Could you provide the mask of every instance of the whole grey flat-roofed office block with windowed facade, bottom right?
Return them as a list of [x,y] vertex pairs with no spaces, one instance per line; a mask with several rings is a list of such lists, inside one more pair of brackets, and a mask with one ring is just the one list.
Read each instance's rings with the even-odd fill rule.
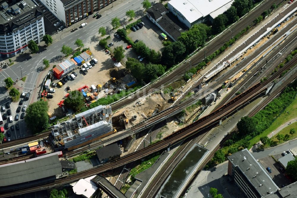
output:
[[266,197],[279,190],[268,172],[247,149],[228,156],[228,160],[228,175],[234,179],[246,197]]

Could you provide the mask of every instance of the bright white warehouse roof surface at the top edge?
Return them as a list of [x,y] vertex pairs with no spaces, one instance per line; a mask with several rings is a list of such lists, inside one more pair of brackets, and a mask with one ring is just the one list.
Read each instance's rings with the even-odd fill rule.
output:
[[171,0],[168,4],[183,15],[190,23],[199,18],[206,17],[211,12],[218,10],[220,7],[228,4],[233,0]]

